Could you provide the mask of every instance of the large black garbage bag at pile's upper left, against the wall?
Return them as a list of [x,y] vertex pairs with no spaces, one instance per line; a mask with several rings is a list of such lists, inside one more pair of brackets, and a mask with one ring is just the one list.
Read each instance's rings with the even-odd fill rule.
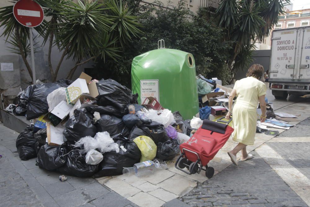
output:
[[[46,97],[48,94],[60,88],[57,83],[45,83],[31,85],[20,95],[20,103],[24,106],[27,103],[27,120],[38,118],[48,112]],[[20,103],[18,105],[20,105]],[[22,106],[22,107],[23,107]],[[16,112],[16,110],[15,110]]]

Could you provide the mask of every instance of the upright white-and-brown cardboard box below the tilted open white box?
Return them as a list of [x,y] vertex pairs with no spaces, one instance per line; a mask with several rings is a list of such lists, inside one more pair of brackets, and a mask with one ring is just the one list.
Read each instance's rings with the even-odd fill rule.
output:
[[64,131],[64,127],[58,125],[57,127],[52,126],[50,123],[47,123],[47,143],[51,146],[59,146],[64,143],[62,132]]

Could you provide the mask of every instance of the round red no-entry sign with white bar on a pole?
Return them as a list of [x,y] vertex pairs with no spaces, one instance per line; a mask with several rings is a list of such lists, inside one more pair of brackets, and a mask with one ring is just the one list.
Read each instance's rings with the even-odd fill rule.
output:
[[42,7],[32,0],[19,0],[13,7],[15,19],[26,27],[36,27],[44,19]]

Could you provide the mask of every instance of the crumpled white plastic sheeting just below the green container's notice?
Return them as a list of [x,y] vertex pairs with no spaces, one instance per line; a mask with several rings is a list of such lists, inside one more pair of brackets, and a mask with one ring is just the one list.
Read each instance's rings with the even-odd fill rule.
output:
[[168,127],[171,123],[175,122],[173,114],[168,109],[160,111],[150,109],[144,110],[144,113],[148,119],[163,124],[165,127]]

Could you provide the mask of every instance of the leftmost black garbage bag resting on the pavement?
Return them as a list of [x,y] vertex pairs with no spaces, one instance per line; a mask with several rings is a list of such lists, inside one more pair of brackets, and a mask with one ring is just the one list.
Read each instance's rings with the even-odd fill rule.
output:
[[33,125],[31,124],[18,135],[16,140],[17,153],[21,160],[29,160],[37,156],[34,146],[35,142]]

